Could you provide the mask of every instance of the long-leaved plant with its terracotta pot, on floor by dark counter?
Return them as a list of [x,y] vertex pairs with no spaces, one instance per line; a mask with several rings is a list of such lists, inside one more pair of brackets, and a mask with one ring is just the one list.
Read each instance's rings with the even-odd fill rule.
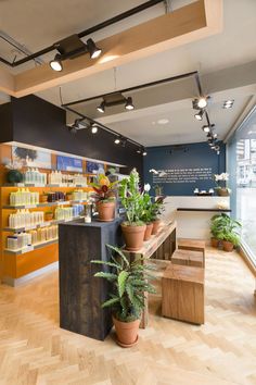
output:
[[106,245],[114,253],[111,261],[91,261],[103,264],[111,272],[102,271],[95,277],[107,280],[111,283],[110,299],[102,303],[103,308],[112,309],[113,322],[117,334],[117,344],[121,347],[132,347],[138,341],[140,318],[144,309],[145,294],[155,293],[149,283],[151,270],[144,260],[137,259],[129,262],[124,252],[111,245]]

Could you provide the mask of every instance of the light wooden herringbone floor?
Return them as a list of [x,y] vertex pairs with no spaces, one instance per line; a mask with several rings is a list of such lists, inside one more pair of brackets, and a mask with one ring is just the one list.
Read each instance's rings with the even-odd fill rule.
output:
[[206,262],[205,325],[161,318],[156,295],[132,349],[61,330],[56,273],[0,286],[0,384],[256,384],[254,278],[235,253]]

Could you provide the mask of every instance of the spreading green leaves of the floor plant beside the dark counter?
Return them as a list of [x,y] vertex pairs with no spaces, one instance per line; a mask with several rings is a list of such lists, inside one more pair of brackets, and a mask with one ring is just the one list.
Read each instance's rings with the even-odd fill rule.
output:
[[148,273],[152,266],[144,264],[143,259],[129,262],[118,247],[106,246],[112,250],[111,261],[91,261],[111,269],[111,272],[94,274],[108,281],[112,287],[110,299],[103,302],[102,307],[112,308],[113,315],[121,322],[138,320],[144,309],[145,293],[155,293],[154,286],[149,283],[154,278]]

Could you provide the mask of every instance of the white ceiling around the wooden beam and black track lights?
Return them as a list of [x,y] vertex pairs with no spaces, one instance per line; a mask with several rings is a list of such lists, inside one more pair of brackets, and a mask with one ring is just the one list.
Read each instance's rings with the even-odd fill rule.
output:
[[[37,51],[142,2],[138,0],[0,1],[0,26],[29,50]],[[176,9],[188,2],[191,0],[174,0],[171,5]],[[102,30],[93,38],[98,40],[104,34],[113,34],[163,12],[163,5],[156,5],[129,21]],[[222,89],[221,85],[218,89],[207,83],[206,75],[255,61],[255,36],[256,1],[223,0],[223,32],[221,34],[123,65],[115,70],[116,76],[114,76],[114,70],[108,70],[65,84],[62,86],[63,101],[69,102],[199,70],[202,75],[205,75],[203,76],[205,91],[213,96],[213,102],[209,105],[210,120],[216,124],[220,138],[225,138],[245,109],[249,98],[256,94],[255,88],[251,87],[245,91],[243,87],[234,87],[230,82],[226,89]],[[0,53],[7,53],[7,51],[3,52],[1,45]],[[11,57],[12,53],[9,50],[9,58]],[[233,78],[234,83],[235,80]],[[182,82],[180,87],[183,87]],[[48,89],[39,92],[38,96],[57,105],[61,104],[59,88]],[[108,112],[107,120],[104,117],[105,124],[107,122],[111,128],[145,146],[202,141],[204,140],[202,124],[194,120],[191,109],[191,100],[195,96],[195,91],[191,89],[191,99],[188,96],[181,97],[179,105],[177,105],[177,100],[171,100],[170,97],[169,103],[166,101],[163,104],[156,103],[155,108],[143,105],[135,112],[116,114],[116,110],[113,109]],[[232,110],[221,108],[221,102],[226,98],[235,99]],[[82,109],[85,113],[89,110],[87,107]],[[163,117],[168,119],[169,123],[152,124]]]

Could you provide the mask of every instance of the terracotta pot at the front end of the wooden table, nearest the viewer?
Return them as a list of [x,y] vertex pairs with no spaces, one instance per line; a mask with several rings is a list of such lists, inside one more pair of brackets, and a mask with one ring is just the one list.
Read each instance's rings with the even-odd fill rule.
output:
[[146,225],[127,226],[121,224],[126,249],[137,251],[142,248]]

